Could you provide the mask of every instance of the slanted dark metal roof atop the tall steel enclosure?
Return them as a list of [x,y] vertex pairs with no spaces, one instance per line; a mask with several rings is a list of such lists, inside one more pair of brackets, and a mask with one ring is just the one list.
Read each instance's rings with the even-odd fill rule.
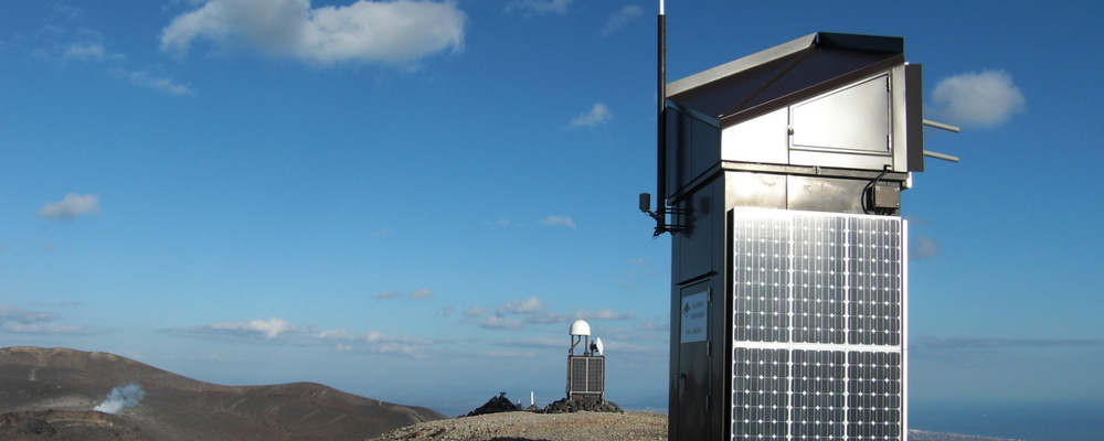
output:
[[667,85],[667,98],[722,127],[904,64],[904,40],[817,32]]

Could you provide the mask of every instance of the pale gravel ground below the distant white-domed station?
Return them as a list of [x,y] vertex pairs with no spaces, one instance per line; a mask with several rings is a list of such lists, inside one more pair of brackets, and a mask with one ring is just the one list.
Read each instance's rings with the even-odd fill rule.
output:
[[667,416],[629,411],[487,413],[420,422],[370,441],[660,441],[667,440]]

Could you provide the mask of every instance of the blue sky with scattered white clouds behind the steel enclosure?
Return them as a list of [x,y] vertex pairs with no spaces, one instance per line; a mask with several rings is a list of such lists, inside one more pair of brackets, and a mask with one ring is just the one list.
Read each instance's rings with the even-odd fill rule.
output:
[[[666,410],[670,239],[637,211],[656,2],[3,8],[0,345],[453,416],[562,398],[584,319],[607,398]],[[1104,3],[666,13],[669,80],[818,31],[902,36],[925,117],[963,128],[926,129],[962,162],[903,196],[914,428],[962,429],[934,417],[951,405],[1104,408]]]

